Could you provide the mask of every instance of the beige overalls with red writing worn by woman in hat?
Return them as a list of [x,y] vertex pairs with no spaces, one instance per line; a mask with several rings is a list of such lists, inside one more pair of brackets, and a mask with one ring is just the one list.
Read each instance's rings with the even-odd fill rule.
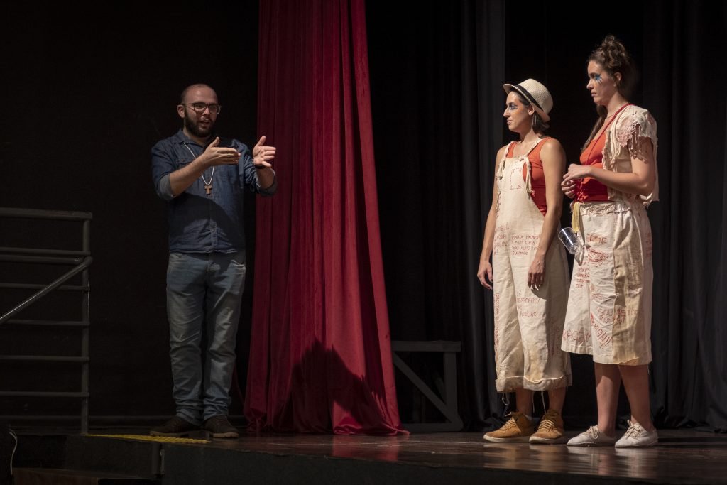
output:
[[571,384],[569,354],[561,350],[569,285],[566,252],[553,239],[545,257],[545,281],[529,288],[528,270],[545,218],[530,197],[530,161],[527,155],[508,157],[512,145],[507,145],[497,170],[492,249],[495,385],[498,392],[563,388]]

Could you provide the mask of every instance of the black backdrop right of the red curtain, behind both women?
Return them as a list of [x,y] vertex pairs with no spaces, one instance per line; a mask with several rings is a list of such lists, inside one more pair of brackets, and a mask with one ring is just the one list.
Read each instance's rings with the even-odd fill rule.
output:
[[[392,335],[462,340],[459,398],[470,428],[502,412],[492,385],[491,294],[475,279],[492,157],[513,138],[502,121],[502,82],[533,77],[549,87],[550,135],[577,161],[595,121],[585,60],[613,33],[641,68],[630,100],[659,124],[662,201],[649,209],[656,422],[727,429],[724,4],[372,1],[368,11]],[[576,427],[594,419],[595,390],[590,357],[572,362],[563,414]]]

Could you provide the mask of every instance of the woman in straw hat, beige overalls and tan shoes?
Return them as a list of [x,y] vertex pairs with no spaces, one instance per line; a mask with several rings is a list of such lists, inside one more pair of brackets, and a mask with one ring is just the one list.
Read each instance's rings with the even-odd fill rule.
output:
[[[558,140],[544,135],[553,108],[545,86],[527,79],[503,87],[503,116],[520,140],[497,152],[477,276],[494,290],[497,391],[514,391],[517,411],[484,438],[561,443],[561,410],[571,383],[569,355],[561,350],[569,276],[565,250],[553,239],[563,207],[565,154]],[[531,417],[536,390],[547,390],[550,402],[537,431]]]

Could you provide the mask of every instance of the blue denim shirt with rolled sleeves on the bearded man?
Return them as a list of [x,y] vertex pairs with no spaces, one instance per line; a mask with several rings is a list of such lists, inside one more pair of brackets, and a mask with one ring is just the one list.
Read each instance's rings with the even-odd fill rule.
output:
[[[222,139],[221,139],[222,140]],[[277,178],[267,189],[260,188],[252,154],[238,140],[225,139],[221,145],[242,153],[237,165],[214,167],[212,191],[207,195],[201,177],[179,196],[172,196],[169,174],[202,154],[204,148],[180,129],[176,135],[161,140],[151,149],[151,173],[156,193],[169,201],[169,252],[238,252],[245,249],[243,191],[272,196]],[[204,173],[206,180],[212,169]]]

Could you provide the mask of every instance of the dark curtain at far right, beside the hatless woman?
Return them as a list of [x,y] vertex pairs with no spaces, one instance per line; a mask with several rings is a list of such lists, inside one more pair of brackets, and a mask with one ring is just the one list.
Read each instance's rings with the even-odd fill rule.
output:
[[[727,431],[727,69],[723,3],[649,1],[644,105],[659,124],[652,407],[656,424]],[[705,97],[708,99],[704,103]]]

